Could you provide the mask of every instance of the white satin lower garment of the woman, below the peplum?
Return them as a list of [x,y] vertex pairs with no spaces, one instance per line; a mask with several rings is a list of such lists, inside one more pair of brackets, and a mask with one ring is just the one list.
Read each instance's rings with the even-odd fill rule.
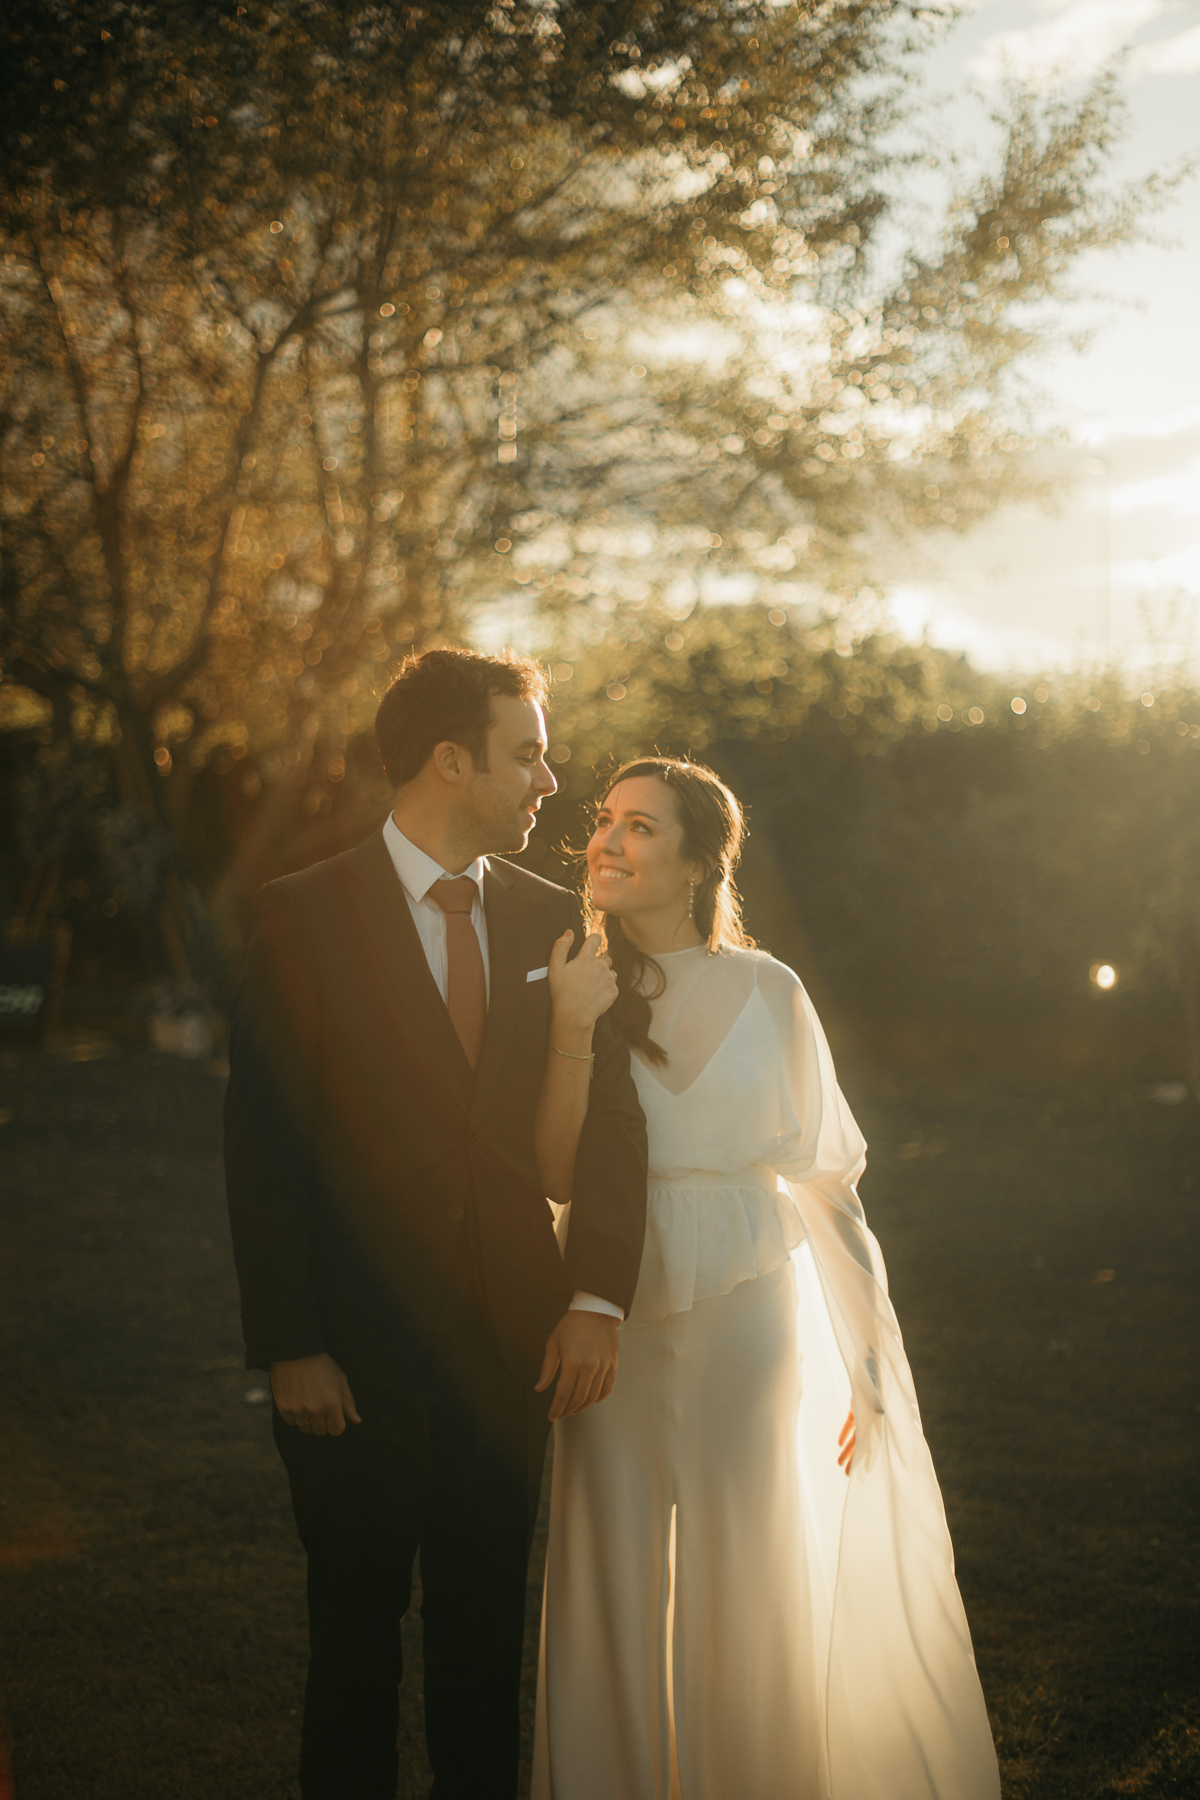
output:
[[819,1800],[799,1382],[786,1262],[554,1427],[534,1800]]

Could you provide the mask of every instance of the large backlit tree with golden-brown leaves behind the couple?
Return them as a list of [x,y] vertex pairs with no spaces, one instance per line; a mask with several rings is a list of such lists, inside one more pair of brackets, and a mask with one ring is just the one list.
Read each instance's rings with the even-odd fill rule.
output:
[[214,752],[336,779],[389,659],[500,596],[721,560],[847,589],[883,529],[995,504],[1031,302],[1135,202],[1101,191],[1110,83],[1015,97],[880,288],[936,22],[14,0],[4,682],[104,738],[185,860]]

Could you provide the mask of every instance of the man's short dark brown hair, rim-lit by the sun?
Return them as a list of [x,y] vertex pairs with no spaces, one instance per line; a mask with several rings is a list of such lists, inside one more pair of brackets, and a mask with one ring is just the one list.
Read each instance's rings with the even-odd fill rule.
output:
[[498,693],[545,706],[545,670],[511,652],[480,657],[473,650],[423,650],[405,657],[374,715],[392,787],[412,781],[446,742],[461,743],[475,767],[486,769],[491,697]]

